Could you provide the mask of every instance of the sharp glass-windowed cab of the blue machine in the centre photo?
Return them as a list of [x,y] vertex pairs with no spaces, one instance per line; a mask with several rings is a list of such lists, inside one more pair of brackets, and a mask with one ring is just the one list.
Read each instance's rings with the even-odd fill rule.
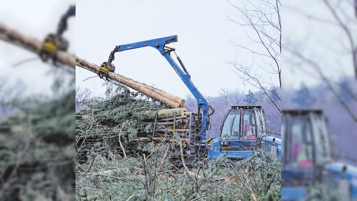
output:
[[251,144],[263,135],[268,135],[267,131],[261,105],[231,106],[220,128],[221,145],[230,145],[230,141],[247,141]]

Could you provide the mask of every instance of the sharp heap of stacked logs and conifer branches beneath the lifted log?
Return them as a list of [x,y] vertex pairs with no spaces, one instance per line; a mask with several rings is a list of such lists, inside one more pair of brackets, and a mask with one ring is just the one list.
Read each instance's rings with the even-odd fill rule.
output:
[[149,144],[162,141],[182,142],[185,146],[188,118],[195,112],[156,105],[145,95],[132,93],[117,82],[104,85],[106,100],[99,97],[82,100],[85,108],[76,113],[78,162],[85,162],[88,150],[92,149],[113,157],[148,152]]

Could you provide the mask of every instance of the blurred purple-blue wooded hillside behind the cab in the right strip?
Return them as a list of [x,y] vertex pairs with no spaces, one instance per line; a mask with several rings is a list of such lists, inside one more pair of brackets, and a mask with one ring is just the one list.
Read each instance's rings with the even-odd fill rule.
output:
[[328,119],[334,152],[340,156],[340,161],[357,164],[356,161],[343,159],[356,159],[353,151],[357,140],[357,121],[353,117],[357,114],[356,81],[352,78],[340,80],[334,90],[336,95],[325,84],[314,87],[302,85],[295,91],[284,90],[282,108],[323,110]]

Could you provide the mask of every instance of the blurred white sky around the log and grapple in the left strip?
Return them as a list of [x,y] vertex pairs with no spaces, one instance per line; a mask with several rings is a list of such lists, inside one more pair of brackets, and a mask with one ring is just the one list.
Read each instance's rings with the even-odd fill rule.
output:
[[[0,6],[0,23],[42,41],[47,34],[56,31],[60,17],[74,4],[75,0],[3,1]],[[64,37],[70,42],[68,51],[75,54],[75,17],[70,17],[67,22],[68,29]],[[9,77],[9,85],[21,79],[28,86],[23,95],[50,95],[56,76],[62,76],[65,80],[69,78],[64,70],[55,69],[35,54],[2,40],[0,55],[0,76]],[[38,59],[35,61],[12,67],[22,60],[36,57]]]

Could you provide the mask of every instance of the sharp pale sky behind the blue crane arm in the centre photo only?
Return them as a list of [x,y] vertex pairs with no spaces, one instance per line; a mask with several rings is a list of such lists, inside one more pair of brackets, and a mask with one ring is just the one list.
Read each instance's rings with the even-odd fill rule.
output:
[[[178,35],[171,43],[182,59],[191,80],[205,96],[216,96],[221,89],[256,90],[243,85],[225,65],[234,60],[238,44],[250,43],[245,30],[228,21],[226,14],[238,18],[227,1],[76,1],[76,55],[96,65],[107,61],[116,45]],[[251,54],[240,52],[241,58]],[[184,98],[191,94],[157,50],[142,47],[117,52],[115,72]],[[76,86],[103,95],[104,80],[76,67]]]

